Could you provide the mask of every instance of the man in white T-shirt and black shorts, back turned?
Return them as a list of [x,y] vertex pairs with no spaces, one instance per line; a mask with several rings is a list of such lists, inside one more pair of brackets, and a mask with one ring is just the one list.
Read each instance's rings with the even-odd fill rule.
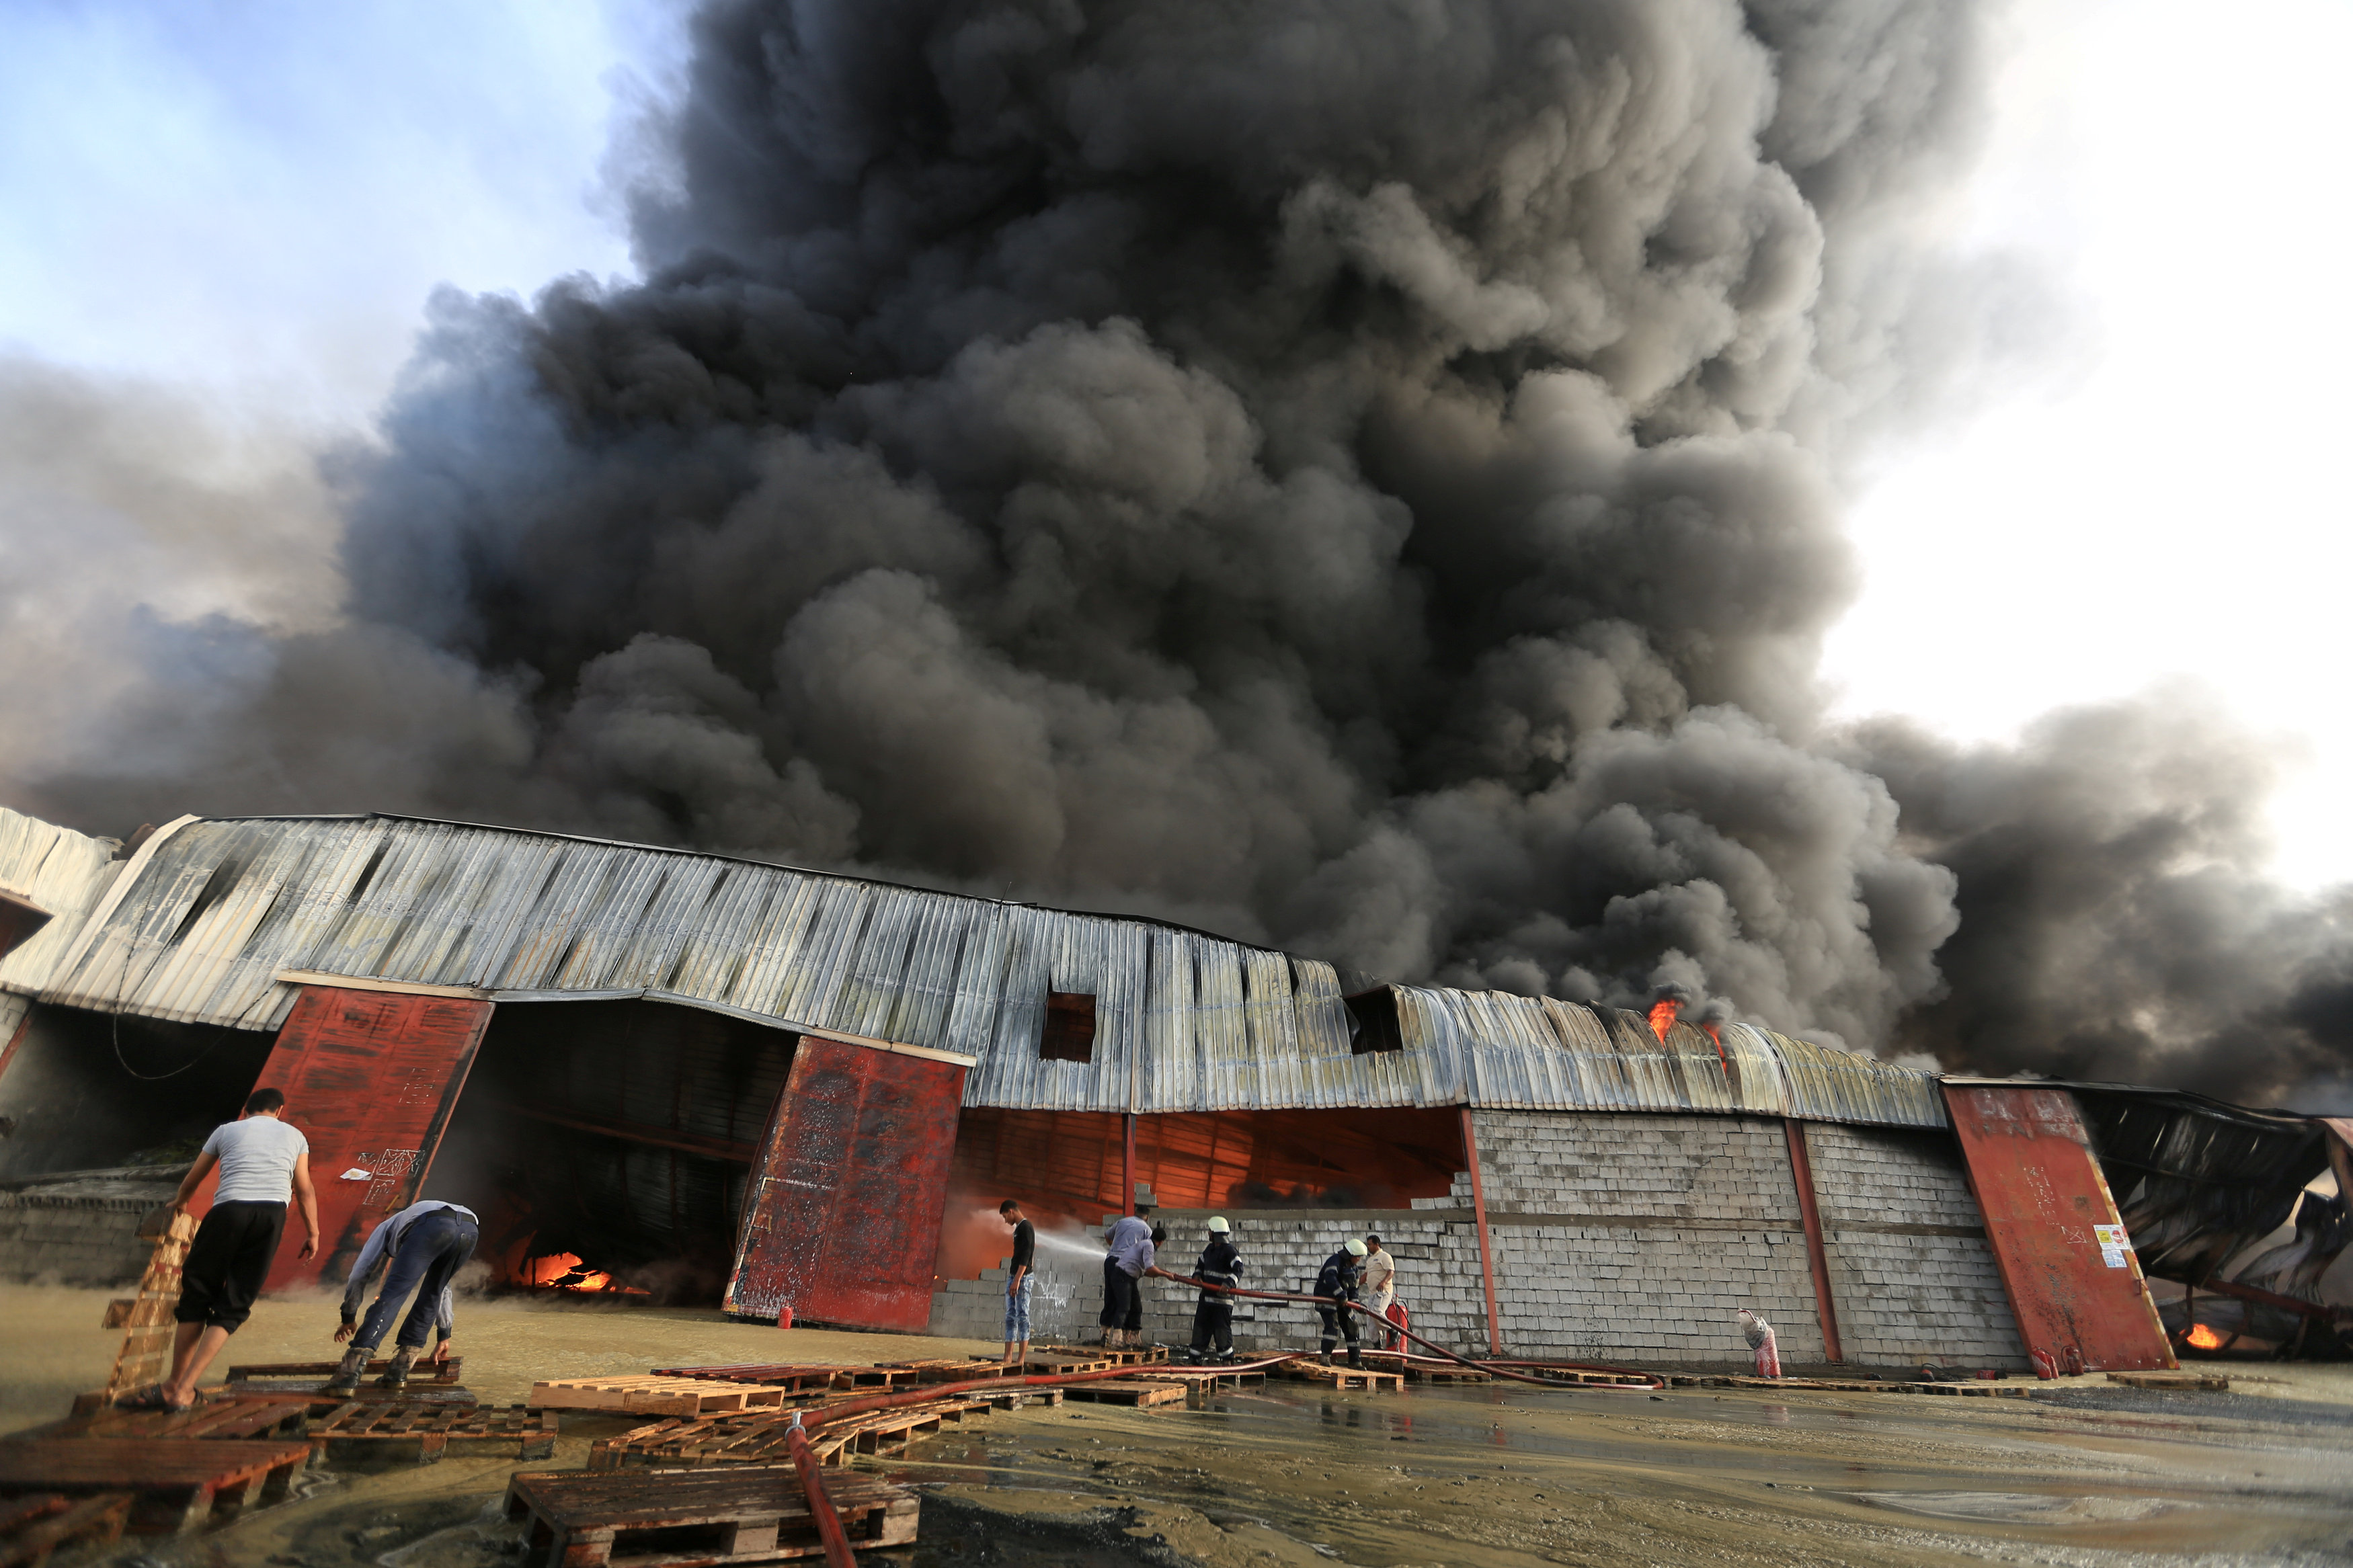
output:
[[186,1213],[195,1190],[214,1166],[221,1185],[212,1194],[205,1222],[195,1227],[188,1260],[179,1274],[179,1307],[172,1309],[172,1375],[141,1389],[122,1403],[162,1410],[186,1410],[195,1403],[195,1380],[245,1326],[254,1298],[278,1258],[278,1237],[287,1225],[287,1201],[301,1206],[301,1255],[318,1253],[318,1194],[311,1190],[311,1140],[287,1126],[287,1098],[275,1088],[256,1088],[245,1100],[245,1117],[212,1128],[205,1152],[188,1175],[179,1178],[172,1211]]

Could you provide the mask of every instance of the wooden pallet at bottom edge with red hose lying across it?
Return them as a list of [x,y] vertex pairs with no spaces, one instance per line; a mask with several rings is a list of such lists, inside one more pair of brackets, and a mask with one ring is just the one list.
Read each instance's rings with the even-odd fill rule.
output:
[[[826,1500],[854,1549],[915,1540],[920,1502],[873,1476],[828,1476]],[[527,1568],[769,1563],[824,1556],[791,1465],[732,1469],[522,1472],[506,1516],[529,1519]]]

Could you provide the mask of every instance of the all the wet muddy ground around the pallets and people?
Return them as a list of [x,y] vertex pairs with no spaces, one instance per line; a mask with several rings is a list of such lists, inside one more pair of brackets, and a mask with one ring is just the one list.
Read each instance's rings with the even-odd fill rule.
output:
[[[106,1378],[104,1295],[0,1288],[0,1427]],[[329,1300],[264,1302],[238,1361],[325,1359]],[[729,1324],[713,1312],[466,1305],[466,1385],[678,1361],[880,1361],[976,1345]],[[224,1361],[226,1363],[226,1361]],[[1553,1392],[1322,1394],[1273,1382],[1207,1408],[991,1415],[906,1462],[922,1542],[873,1563],[2353,1563],[2353,1368],[2231,1366],[2231,1394],[2104,1380],[2035,1399]],[[567,1418],[576,1467],[612,1418]],[[513,1460],[313,1469],[299,1497],[136,1568],[513,1568]],[[85,1556],[82,1561],[96,1561]],[[61,1568],[80,1568],[61,1559]]]

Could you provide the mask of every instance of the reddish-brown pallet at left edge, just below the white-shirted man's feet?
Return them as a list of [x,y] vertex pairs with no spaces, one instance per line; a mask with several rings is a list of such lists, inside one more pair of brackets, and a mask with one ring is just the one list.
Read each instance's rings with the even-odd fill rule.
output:
[[226,1523],[247,1502],[278,1502],[311,1462],[301,1439],[188,1443],[153,1436],[0,1441],[0,1497],[129,1493],[129,1528],[179,1535]]

